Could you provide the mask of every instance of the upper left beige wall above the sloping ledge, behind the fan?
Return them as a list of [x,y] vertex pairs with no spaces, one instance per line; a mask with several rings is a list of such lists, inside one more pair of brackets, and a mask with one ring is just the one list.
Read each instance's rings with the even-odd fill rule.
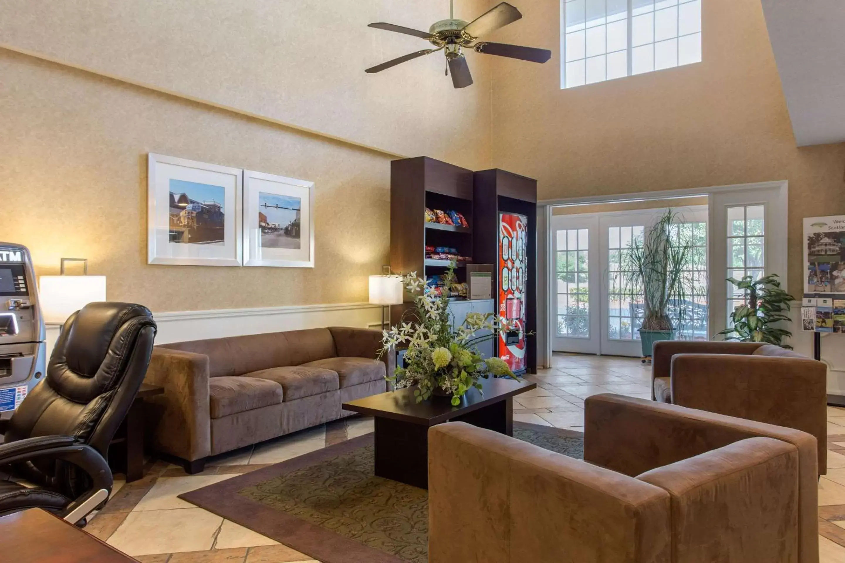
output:
[[[455,16],[472,19],[491,2],[461,0]],[[0,0],[0,46],[481,170],[490,57],[468,57],[476,84],[466,89],[451,87],[442,52],[363,72],[431,47],[368,23],[428,30],[448,17],[449,0]]]

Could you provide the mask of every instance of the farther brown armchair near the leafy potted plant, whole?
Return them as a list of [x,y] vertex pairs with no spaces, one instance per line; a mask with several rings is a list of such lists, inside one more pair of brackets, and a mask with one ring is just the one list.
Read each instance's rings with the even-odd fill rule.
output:
[[756,342],[654,344],[651,396],[661,403],[804,430],[827,473],[827,366]]

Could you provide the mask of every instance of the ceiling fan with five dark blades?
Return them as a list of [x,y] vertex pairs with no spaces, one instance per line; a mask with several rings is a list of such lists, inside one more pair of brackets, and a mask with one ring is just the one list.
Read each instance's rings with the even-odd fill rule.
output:
[[487,35],[491,31],[498,30],[507,24],[512,24],[522,17],[520,11],[509,3],[500,3],[495,8],[473,19],[472,22],[466,23],[462,19],[455,19],[454,0],[450,0],[449,15],[449,19],[442,19],[433,24],[428,29],[428,32],[412,30],[401,25],[385,24],[384,22],[369,24],[369,27],[379,30],[395,31],[396,33],[420,37],[428,40],[436,48],[423,49],[423,51],[413,52],[403,57],[395,58],[392,61],[382,62],[379,65],[368,68],[364,72],[371,74],[380,73],[385,68],[395,67],[402,62],[430,55],[433,52],[444,51],[446,61],[449,64],[447,73],[452,73],[452,84],[454,84],[455,88],[466,88],[466,86],[472,84],[472,74],[470,73],[469,66],[466,64],[466,57],[461,52],[462,48],[472,49],[485,55],[518,58],[522,61],[531,62],[546,62],[552,57],[552,51],[548,51],[548,49],[478,41],[478,38],[482,35]]

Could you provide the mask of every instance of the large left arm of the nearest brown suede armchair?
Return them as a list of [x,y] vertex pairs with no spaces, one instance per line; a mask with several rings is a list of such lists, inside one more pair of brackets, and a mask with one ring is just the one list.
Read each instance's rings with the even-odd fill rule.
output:
[[668,526],[658,487],[462,422],[428,430],[430,563],[668,563]]

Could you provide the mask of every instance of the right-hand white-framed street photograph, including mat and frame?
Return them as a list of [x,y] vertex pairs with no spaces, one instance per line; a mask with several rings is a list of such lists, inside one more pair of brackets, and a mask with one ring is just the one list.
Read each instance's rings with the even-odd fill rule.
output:
[[243,171],[245,266],[314,267],[314,183]]

